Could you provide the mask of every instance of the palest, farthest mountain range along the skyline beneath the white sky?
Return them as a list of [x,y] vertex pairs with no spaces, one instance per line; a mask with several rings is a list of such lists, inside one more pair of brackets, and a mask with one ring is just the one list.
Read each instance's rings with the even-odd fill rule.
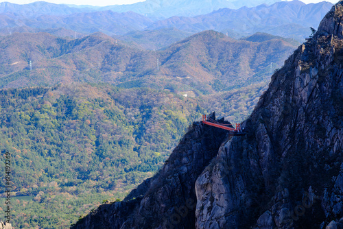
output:
[[278,0],[257,0],[257,1],[237,1],[237,0],[202,0],[202,1],[180,1],[180,0],[146,0],[127,5],[108,5],[104,7],[92,5],[65,5],[36,1],[25,5],[9,2],[0,3],[0,13],[14,13],[18,16],[40,16],[66,15],[77,12],[95,12],[112,10],[113,12],[136,12],[145,16],[167,18],[169,16],[196,16],[206,14],[220,8],[237,9],[243,6],[253,7],[266,3],[268,5]]

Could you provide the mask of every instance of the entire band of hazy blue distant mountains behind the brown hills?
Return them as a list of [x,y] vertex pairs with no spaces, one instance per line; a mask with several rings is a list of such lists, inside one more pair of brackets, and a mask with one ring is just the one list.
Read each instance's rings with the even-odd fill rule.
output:
[[[237,1],[238,2],[238,1]],[[239,38],[255,32],[292,37],[303,40],[310,34],[309,27],[318,27],[322,16],[331,8],[332,3],[321,2],[305,4],[300,1],[276,2],[272,5],[259,5],[252,8],[239,8],[232,10],[225,8],[224,3],[230,1],[162,1],[161,8],[154,8],[150,1],[132,5],[119,5],[106,8],[75,8],[68,5],[36,2],[27,5],[0,3],[0,34],[7,35],[11,32],[52,32],[46,29],[64,28],[71,31],[55,33],[59,36],[71,36],[74,32],[91,34],[103,32],[110,36],[123,35],[132,31],[176,28],[185,32],[201,32],[214,29],[218,32],[228,33],[229,36]],[[191,12],[194,8],[210,10],[197,12],[198,16],[178,16],[183,8]],[[222,4],[223,3],[223,4]],[[244,3],[242,1],[241,3]],[[163,12],[163,17],[147,15],[143,12],[137,14],[134,8],[137,5],[150,5],[154,12]],[[200,8],[200,4],[202,7]],[[213,7],[207,7],[211,4]],[[217,9],[214,5],[221,5]],[[165,5],[165,6],[163,6]],[[164,12],[164,7],[170,12]],[[126,8],[126,10],[123,10]],[[143,8],[142,8],[143,9]],[[176,10],[178,9],[178,10]],[[212,10],[215,10],[212,12]],[[200,10],[201,11],[201,10]],[[202,15],[200,15],[202,14]],[[169,19],[166,17],[171,16]]]

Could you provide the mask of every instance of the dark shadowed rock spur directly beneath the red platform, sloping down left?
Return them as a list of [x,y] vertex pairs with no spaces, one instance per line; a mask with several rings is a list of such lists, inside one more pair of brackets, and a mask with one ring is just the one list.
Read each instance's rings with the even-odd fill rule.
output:
[[156,176],[71,228],[195,228],[196,179],[226,139],[224,130],[194,123]]

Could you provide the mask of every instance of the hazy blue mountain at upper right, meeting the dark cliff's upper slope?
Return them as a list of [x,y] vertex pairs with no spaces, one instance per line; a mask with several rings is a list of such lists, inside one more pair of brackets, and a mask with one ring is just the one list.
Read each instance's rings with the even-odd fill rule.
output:
[[282,1],[238,10],[223,8],[191,18],[172,16],[156,21],[149,28],[176,27],[191,32],[214,29],[233,37],[267,32],[284,37],[294,35],[303,40],[309,36],[309,27],[318,27],[320,20],[331,7],[332,3],[325,1],[316,4]]

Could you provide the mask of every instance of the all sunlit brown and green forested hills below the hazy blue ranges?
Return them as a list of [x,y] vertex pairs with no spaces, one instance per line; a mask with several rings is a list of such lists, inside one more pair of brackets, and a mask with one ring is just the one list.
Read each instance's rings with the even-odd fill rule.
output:
[[148,51],[135,36],[156,33],[0,39],[0,147],[14,160],[14,225],[60,228],[125,197],[202,114],[247,117],[271,67],[296,45],[208,31]]

